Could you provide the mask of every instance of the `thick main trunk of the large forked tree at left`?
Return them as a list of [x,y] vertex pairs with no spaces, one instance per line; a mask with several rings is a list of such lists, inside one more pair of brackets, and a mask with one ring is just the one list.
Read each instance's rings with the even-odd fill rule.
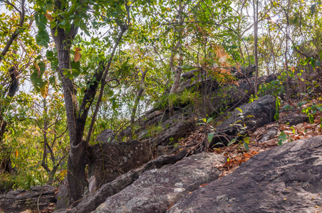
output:
[[[57,36],[55,36],[57,31]],[[55,42],[58,58],[58,72],[61,76],[63,86],[64,102],[66,107],[67,126],[71,148],[68,156],[68,189],[69,202],[73,204],[83,197],[83,193],[88,188],[85,178],[85,155],[86,145],[82,141],[85,119],[78,118],[78,102],[76,100],[76,89],[73,82],[63,75],[65,70],[71,70],[70,50],[73,38],[75,38],[78,28],[71,26],[71,31],[67,34],[63,28],[52,28],[51,34]],[[82,112],[80,112],[82,113]],[[78,113],[79,114],[79,113]]]

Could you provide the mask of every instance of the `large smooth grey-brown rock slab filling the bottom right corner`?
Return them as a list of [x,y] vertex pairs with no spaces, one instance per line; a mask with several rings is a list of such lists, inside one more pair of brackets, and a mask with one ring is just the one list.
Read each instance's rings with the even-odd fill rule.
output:
[[321,192],[322,136],[316,136],[254,155],[167,212],[318,212]]

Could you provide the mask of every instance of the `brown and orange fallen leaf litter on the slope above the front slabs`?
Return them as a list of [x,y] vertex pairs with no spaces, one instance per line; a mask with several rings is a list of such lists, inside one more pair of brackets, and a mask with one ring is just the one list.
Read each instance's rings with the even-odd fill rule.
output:
[[[321,103],[319,99],[312,99],[311,102],[301,105],[301,102],[298,101],[289,101],[289,103],[284,103],[284,106],[289,105],[292,107],[291,110],[281,110],[279,117],[284,117],[290,112],[295,114],[303,114],[303,109],[308,109],[313,104]],[[299,107],[301,105],[301,107]],[[281,106],[283,109],[284,106]],[[311,108],[309,108],[311,109]],[[261,128],[256,129],[254,132],[249,133],[249,151],[241,145],[241,143],[233,144],[231,146],[224,146],[222,148],[209,148],[209,152],[219,153],[224,155],[227,158],[227,162],[222,165],[216,165],[216,167],[221,170],[220,178],[232,173],[236,170],[241,163],[246,162],[251,158],[251,156],[266,151],[268,149],[279,146],[278,143],[287,143],[290,141],[296,141],[303,138],[310,138],[313,136],[322,135],[322,111],[317,110],[313,115],[314,122],[311,123],[300,123],[296,126],[289,126],[283,124],[281,119],[279,121],[274,121],[271,124],[266,124]],[[220,123],[220,122],[219,122]],[[268,141],[259,142],[261,136],[264,135],[269,129],[275,128],[278,133],[274,138],[269,139]],[[182,138],[178,142],[178,146],[189,147],[187,153],[193,153],[194,148],[197,148],[202,144],[202,141],[205,138],[204,126],[200,126],[199,129],[190,133],[186,138]]]

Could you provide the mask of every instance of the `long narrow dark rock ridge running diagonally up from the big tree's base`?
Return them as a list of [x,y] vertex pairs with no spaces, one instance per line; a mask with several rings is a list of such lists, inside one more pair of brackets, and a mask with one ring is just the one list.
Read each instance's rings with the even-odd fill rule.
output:
[[77,207],[74,207],[71,210],[68,209],[61,209],[56,211],[57,213],[67,213],[67,212],[73,212],[73,213],[87,213],[95,210],[100,204],[105,202],[105,200],[115,195],[116,193],[120,192],[121,190],[125,189],[125,187],[128,187],[130,184],[132,184],[137,178],[140,177],[142,173],[144,173],[146,170],[152,170],[155,168],[161,168],[164,165],[170,165],[178,160],[181,160],[185,157],[185,154],[187,152],[187,149],[184,149],[177,155],[162,155],[156,158],[155,160],[152,160],[148,162],[145,165],[142,165],[140,168],[136,168],[134,170],[130,170],[130,172],[121,175],[120,177],[116,178],[112,182],[106,183],[102,187],[100,187],[95,192],[92,192],[87,197],[84,197],[80,204],[78,204]]

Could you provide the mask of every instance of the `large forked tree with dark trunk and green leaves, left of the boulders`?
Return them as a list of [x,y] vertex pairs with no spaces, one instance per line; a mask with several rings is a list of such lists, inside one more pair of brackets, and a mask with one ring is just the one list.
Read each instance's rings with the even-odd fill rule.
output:
[[[49,41],[48,33],[46,31],[46,23],[50,21],[51,36],[55,43],[56,58],[58,60],[57,73],[60,77],[63,87],[64,102],[66,107],[66,118],[68,126],[69,140],[71,148],[68,155],[68,188],[70,204],[76,203],[88,192],[88,182],[85,178],[86,165],[86,148],[89,140],[84,140],[85,122],[88,118],[90,106],[95,99],[95,94],[100,85],[100,94],[98,102],[93,113],[92,123],[95,121],[95,116],[98,113],[101,98],[105,87],[105,79],[113,60],[116,47],[128,29],[130,20],[129,6],[127,1],[118,1],[116,4],[102,1],[36,1],[37,14],[36,23],[38,26],[38,43],[47,47]],[[93,6],[93,13],[91,8]],[[49,11],[49,13],[47,13]],[[116,12],[116,13],[115,13]],[[88,16],[91,13],[91,17]],[[84,91],[81,103],[78,104],[77,90],[74,84],[73,77],[79,73],[79,51],[81,48],[75,48],[74,61],[71,60],[71,52],[73,48],[73,41],[78,34],[79,28],[85,33],[89,34],[89,28],[86,22],[90,18],[104,18],[111,26],[117,26],[113,30],[117,35],[113,50],[107,65],[98,65],[93,72],[92,78],[88,82],[88,87]],[[101,22],[102,23],[102,22]],[[105,64],[105,62],[103,62]],[[77,74],[76,74],[77,75]],[[90,125],[88,131],[88,138],[93,128]]]

